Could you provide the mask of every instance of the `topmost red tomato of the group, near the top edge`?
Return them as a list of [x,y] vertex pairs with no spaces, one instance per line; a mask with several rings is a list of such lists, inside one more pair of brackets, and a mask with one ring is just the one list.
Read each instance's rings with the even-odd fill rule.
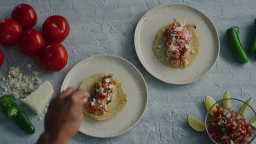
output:
[[37,13],[30,5],[21,3],[11,12],[11,18],[18,21],[22,28],[34,27],[37,23]]

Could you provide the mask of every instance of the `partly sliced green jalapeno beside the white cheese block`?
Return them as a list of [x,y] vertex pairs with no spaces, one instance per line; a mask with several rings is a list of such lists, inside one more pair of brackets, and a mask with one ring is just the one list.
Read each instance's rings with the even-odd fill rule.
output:
[[17,104],[12,101],[9,95],[0,98],[0,105],[3,107],[9,119],[13,119],[15,123],[28,134],[34,134],[35,128],[27,118],[24,112],[20,111]]

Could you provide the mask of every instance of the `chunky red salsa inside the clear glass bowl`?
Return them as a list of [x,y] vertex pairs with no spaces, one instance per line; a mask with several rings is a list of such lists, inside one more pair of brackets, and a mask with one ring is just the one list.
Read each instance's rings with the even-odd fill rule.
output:
[[219,144],[244,144],[253,135],[250,124],[243,115],[234,112],[230,107],[216,106],[213,117],[209,120],[208,131]]

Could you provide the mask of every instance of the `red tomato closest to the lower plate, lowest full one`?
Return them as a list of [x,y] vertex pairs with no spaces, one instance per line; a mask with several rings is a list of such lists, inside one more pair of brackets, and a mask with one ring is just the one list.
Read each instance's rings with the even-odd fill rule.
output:
[[39,62],[46,71],[59,71],[67,64],[68,53],[60,43],[50,43],[39,54]]

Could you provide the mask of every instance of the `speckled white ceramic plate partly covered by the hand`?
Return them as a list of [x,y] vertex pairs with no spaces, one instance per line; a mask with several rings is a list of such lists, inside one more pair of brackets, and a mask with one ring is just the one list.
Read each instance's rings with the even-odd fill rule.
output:
[[68,87],[78,88],[82,80],[96,73],[112,73],[122,82],[127,95],[125,107],[116,117],[96,121],[84,116],[79,131],[94,137],[113,137],[127,132],[143,116],[148,96],[146,82],[127,60],[113,55],[94,55],[77,63],[66,75],[61,91]]

